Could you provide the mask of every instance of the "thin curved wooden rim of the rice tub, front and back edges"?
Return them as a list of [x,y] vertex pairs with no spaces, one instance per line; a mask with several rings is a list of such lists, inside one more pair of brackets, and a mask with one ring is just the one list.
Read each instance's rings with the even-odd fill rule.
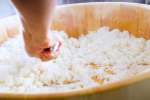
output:
[[[150,9],[150,7],[146,4],[138,4],[138,3],[127,3],[127,2],[91,2],[91,3],[77,3],[77,4],[65,4],[60,5],[58,8],[62,7],[70,7],[70,6],[76,6],[76,5],[99,5],[99,4],[111,4],[111,5],[130,5],[130,6],[136,6],[136,7],[144,7],[146,9]],[[105,93],[107,91],[127,87],[130,85],[133,85],[138,82],[142,82],[144,80],[150,79],[150,72],[141,73],[138,75],[135,75],[133,77],[126,78],[124,80],[116,81],[113,83],[105,84],[102,86],[96,86],[81,90],[73,90],[73,91],[67,91],[67,92],[55,92],[55,93],[0,93],[1,97],[6,98],[65,98],[65,97],[71,97],[71,96],[81,96],[81,95],[90,95],[95,93]]]

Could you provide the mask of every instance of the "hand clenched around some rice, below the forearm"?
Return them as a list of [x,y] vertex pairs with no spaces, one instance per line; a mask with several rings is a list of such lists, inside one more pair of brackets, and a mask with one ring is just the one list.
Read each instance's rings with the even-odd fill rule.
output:
[[[45,37],[38,38],[38,33],[36,37],[33,36],[30,32],[25,31],[24,43],[27,53],[32,57],[38,57],[42,61],[51,60],[56,58],[60,52],[61,41],[57,39],[57,43],[53,43],[48,35]],[[54,50],[55,49],[55,50]]]

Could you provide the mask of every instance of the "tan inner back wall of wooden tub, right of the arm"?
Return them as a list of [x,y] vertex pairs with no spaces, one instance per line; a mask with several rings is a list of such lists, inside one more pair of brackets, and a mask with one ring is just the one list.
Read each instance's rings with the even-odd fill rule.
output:
[[78,37],[102,26],[127,30],[137,37],[149,39],[150,9],[147,5],[130,3],[65,5],[56,9],[52,29]]

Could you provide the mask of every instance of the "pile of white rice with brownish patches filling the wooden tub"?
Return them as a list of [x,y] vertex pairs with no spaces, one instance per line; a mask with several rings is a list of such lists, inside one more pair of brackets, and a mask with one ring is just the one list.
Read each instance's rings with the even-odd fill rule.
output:
[[0,92],[60,92],[102,86],[150,69],[150,40],[102,27],[79,39],[59,34],[57,59],[30,58],[22,35],[0,47]]

